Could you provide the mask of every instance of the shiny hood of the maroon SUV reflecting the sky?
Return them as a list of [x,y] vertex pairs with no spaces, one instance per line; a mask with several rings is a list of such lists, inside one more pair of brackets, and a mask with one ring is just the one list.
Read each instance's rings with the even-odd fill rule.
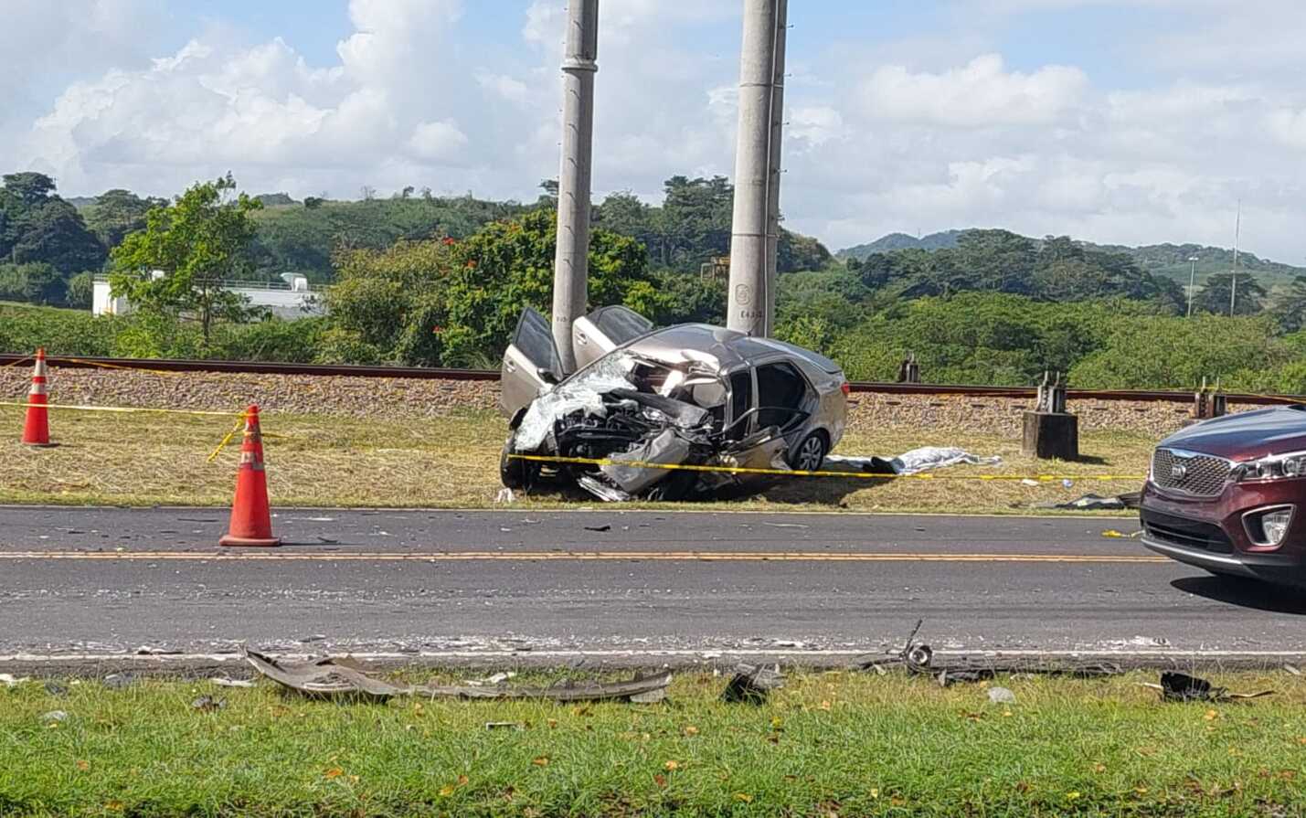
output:
[[1161,442],[1229,460],[1306,451],[1306,406],[1276,406],[1203,421]]

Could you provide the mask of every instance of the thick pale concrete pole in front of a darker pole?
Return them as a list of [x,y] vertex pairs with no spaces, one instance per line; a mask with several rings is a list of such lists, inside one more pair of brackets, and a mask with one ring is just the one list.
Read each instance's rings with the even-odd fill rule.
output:
[[726,327],[767,335],[767,231],[777,0],[744,0]]

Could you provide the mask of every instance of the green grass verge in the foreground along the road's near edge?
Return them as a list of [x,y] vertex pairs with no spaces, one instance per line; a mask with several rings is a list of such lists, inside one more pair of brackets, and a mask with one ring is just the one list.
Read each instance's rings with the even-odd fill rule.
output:
[[[1279,694],[1164,704],[1145,678],[1002,679],[1017,703],[995,706],[980,685],[807,673],[760,707],[720,703],[710,676],[582,707],[25,683],[0,687],[0,814],[1301,814],[1306,683],[1217,677]],[[229,706],[196,712],[200,694]]]

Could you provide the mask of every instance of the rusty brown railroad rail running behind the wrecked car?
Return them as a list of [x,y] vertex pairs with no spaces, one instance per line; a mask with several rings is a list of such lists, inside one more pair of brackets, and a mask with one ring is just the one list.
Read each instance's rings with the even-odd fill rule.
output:
[[[0,353],[0,367],[29,361],[30,355]],[[246,375],[315,375],[349,378],[410,378],[422,380],[498,380],[495,370],[452,370],[418,366],[343,366],[317,363],[273,363],[251,361],[178,361],[165,358],[72,358],[50,355],[47,363],[57,368],[121,368],[154,370],[163,372],[230,372]],[[956,395],[965,397],[1033,399],[1034,387],[976,387],[934,383],[875,383],[854,382],[853,392],[879,395]],[[1249,395],[1226,392],[1230,404],[1269,406],[1276,404],[1306,402],[1306,397],[1292,395]],[[1192,392],[1148,389],[1067,389],[1067,400],[1135,401],[1191,404]]]

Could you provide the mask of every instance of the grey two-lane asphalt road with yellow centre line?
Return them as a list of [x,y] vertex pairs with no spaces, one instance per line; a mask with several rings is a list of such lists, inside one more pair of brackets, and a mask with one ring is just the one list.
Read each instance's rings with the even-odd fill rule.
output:
[[274,527],[279,549],[218,549],[222,510],[0,508],[0,665],[240,643],[820,664],[917,619],[943,651],[1306,655],[1301,595],[1102,536],[1128,519],[282,510]]

